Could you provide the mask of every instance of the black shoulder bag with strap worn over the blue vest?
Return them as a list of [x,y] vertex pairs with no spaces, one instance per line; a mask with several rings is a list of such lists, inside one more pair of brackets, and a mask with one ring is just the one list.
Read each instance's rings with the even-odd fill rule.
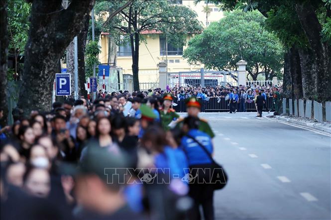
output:
[[[194,137],[192,137],[190,135],[187,135],[187,137],[191,138],[194,142],[196,142],[206,152],[206,154],[209,156],[209,158],[212,160],[212,163],[210,163],[210,164],[198,164],[198,165],[194,165],[194,166],[190,167],[192,176],[194,177],[194,176],[198,175],[202,178],[205,178],[204,180],[206,181],[206,172],[200,172],[200,171],[197,171],[197,169],[199,170],[199,168],[210,168],[211,169],[210,175],[207,176],[207,179],[209,180],[209,182],[206,181],[206,183],[212,184],[212,186],[214,187],[214,190],[222,189],[226,185],[226,182],[227,182],[227,175],[226,175],[226,172],[223,169],[223,167],[213,159],[212,155],[208,152],[207,148],[203,144],[201,144],[199,141],[197,141]],[[199,177],[198,177],[198,179],[199,179]]]

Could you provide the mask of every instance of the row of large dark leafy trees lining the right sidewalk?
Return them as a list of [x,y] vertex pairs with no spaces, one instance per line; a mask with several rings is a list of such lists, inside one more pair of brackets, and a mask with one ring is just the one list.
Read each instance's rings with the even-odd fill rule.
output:
[[[287,97],[294,93],[300,98],[331,100],[331,0],[213,2],[218,3],[224,10],[238,7],[244,11],[258,9],[267,17],[266,26],[278,35],[288,51],[285,62],[290,64],[284,64],[284,84],[287,85],[285,89],[290,88],[292,91],[285,90]],[[290,84],[293,86],[290,87]]]

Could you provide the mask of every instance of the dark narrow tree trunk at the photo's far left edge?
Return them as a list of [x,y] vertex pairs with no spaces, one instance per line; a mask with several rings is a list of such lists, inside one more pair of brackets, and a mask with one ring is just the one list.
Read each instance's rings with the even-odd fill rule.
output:
[[3,109],[3,118],[1,120],[1,126],[7,124],[7,117],[8,117],[8,105],[7,105],[7,55],[8,55],[8,18],[7,18],[7,1],[1,0],[0,1],[0,60],[1,60],[1,67],[0,67],[0,94],[1,94],[1,109]]

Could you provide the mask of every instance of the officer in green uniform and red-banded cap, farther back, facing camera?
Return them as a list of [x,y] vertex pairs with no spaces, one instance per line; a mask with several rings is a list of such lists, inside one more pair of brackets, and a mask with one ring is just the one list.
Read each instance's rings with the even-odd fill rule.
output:
[[174,120],[178,120],[180,116],[174,109],[171,108],[173,97],[171,94],[165,94],[163,97],[162,109],[160,110],[161,126],[165,131],[170,129],[169,124]]

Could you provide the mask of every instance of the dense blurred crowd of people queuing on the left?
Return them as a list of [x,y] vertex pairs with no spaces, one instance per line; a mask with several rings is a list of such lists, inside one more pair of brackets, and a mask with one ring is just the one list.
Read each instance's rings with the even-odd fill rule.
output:
[[173,93],[159,92],[68,98],[29,116],[14,109],[1,129],[1,220],[198,220],[200,206],[213,220],[213,183],[187,178],[213,167],[219,147],[198,117],[204,102],[185,97],[182,118]]

